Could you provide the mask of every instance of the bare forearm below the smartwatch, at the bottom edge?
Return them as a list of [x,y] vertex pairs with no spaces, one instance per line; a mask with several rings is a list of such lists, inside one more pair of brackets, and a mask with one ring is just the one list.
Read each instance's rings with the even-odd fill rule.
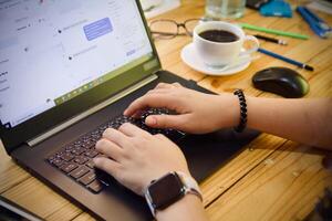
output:
[[200,199],[194,194],[186,194],[165,210],[157,211],[156,219],[158,221],[206,221],[207,217]]

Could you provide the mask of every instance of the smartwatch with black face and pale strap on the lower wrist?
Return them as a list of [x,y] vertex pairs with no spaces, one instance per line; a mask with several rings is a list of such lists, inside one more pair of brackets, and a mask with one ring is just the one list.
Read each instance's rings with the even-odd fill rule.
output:
[[193,193],[203,200],[199,187],[191,177],[180,171],[173,171],[153,180],[145,191],[145,199],[155,217],[157,210],[166,209],[187,193]]

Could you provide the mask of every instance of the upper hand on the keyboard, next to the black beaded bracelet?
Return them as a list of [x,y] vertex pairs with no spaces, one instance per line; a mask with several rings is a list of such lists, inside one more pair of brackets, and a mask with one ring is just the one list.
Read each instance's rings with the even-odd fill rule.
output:
[[138,116],[148,107],[164,107],[177,115],[149,115],[145,124],[155,128],[173,128],[191,134],[205,134],[239,122],[238,98],[232,94],[210,95],[175,84],[158,84],[154,90],[134,101],[124,112]]

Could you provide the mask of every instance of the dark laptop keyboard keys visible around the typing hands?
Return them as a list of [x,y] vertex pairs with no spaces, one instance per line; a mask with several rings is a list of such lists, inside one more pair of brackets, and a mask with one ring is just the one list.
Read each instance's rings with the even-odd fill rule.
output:
[[117,129],[122,124],[131,123],[153,135],[163,134],[174,141],[183,137],[184,134],[178,130],[156,129],[145,125],[145,118],[148,115],[172,113],[164,108],[152,108],[145,110],[141,118],[126,117],[123,115],[118,116],[60,148],[55,154],[49,156],[46,161],[93,193],[98,193],[104,186],[115,183],[111,176],[95,169],[92,162],[93,158],[101,156],[101,154],[95,150],[95,144],[101,139],[103,131],[110,127]]

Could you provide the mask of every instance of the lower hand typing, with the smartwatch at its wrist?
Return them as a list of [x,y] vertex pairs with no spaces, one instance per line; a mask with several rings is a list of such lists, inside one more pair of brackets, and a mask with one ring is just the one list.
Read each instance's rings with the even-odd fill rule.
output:
[[95,167],[141,196],[152,180],[169,171],[190,176],[185,156],[174,143],[164,135],[151,135],[128,123],[118,130],[106,129],[95,148],[108,157],[95,158]]

